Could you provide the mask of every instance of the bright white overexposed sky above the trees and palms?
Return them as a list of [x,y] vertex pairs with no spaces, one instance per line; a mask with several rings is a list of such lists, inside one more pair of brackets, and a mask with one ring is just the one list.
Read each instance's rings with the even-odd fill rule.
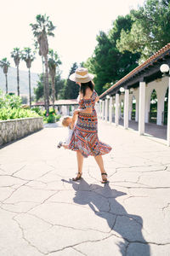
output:
[[[30,23],[36,23],[36,15],[48,15],[56,29],[55,37],[48,39],[49,48],[57,51],[62,65],[59,67],[67,79],[74,62],[87,61],[93,55],[99,31],[108,32],[118,15],[127,15],[137,9],[144,0],[0,0],[0,59],[10,58],[14,47],[33,49]],[[20,62],[26,70],[26,63]],[[37,55],[31,72],[41,73],[41,57]]]

